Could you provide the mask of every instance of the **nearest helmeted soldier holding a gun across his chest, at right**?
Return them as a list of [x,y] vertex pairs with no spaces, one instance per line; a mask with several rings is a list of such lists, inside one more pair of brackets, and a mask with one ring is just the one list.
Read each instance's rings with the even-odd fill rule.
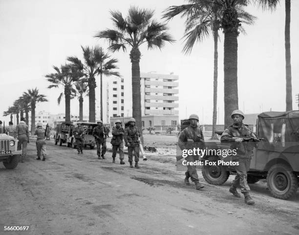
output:
[[[225,129],[221,136],[221,142],[231,143],[231,149],[236,150],[237,155],[233,156],[233,160],[239,162],[238,166],[233,166],[237,175],[235,176],[235,180],[229,191],[235,197],[241,197],[236,191],[236,188],[240,185],[241,193],[244,194],[245,197],[245,203],[253,205],[255,204],[255,201],[249,195],[250,188],[247,184],[247,171],[249,171],[254,143],[247,141],[243,142],[244,139],[240,138],[240,136],[256,138],[256,135],[243,124],[244,114],[242,111],[233,111],[231,117],[234,120],[234,124]],[[258,139],[256,138],[255,141],[258,141]]]

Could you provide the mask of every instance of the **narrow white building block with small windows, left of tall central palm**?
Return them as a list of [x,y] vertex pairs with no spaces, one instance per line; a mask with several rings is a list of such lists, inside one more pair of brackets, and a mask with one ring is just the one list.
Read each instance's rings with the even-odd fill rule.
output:
[[103,123],[110,117],[124,117],[124,78],[109,77],[103,83]]

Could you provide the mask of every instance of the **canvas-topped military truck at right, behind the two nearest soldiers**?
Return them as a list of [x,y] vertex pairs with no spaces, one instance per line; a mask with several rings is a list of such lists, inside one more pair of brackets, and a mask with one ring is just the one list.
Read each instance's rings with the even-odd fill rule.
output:
[[[246,120],[244,119],[246,122]],[[258,115],[256,134],[265,140],[257,142],[253,150],[248,183],[267,179],[271,195],[289,199],[297,192],[299,182],[299,111],[264,112]],[[216,132],[217,134],[222,134]],[[206,142],[208,149],[229,149],[230,144]],[[204,156],[204,160],[229,162],[231,157]],[[214,185],[227,181],[234,169],[223,164],[207,165],[202,168],[205,180]]]

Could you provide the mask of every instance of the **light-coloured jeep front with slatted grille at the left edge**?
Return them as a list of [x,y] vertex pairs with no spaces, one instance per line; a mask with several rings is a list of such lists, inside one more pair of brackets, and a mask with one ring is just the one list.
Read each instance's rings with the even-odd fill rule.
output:
[[14,169],[18,166],[22,151],[17,147],[18,139],[0,134],[0,161],[3,162],[6,169]]

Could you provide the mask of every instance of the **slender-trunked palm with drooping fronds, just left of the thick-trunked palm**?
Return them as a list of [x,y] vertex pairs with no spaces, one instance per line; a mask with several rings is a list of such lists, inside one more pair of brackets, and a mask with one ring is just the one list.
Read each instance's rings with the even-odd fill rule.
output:
[[[173,17],[181,14],[186,16],[185,22],[185,46],[183,52],[191,53],[196,41],[203,41],[210,33],[214,39],[214,91],[213,91],[213,128],[212,138],[217,139],[215,135],[215,125],[217,121],[217,79],[218,79],[218,31],[221,28],[222,6],[214,2],[200,7],[197,0],[189,0],[190,4],[171,6],[166,9],[163,18],[171,20]],[[236,6],[238,19],[246,24],[253,24],[256,19],[254,16],[245,12],[241,6]],[[242,28],[242,32],[245,30]]]

